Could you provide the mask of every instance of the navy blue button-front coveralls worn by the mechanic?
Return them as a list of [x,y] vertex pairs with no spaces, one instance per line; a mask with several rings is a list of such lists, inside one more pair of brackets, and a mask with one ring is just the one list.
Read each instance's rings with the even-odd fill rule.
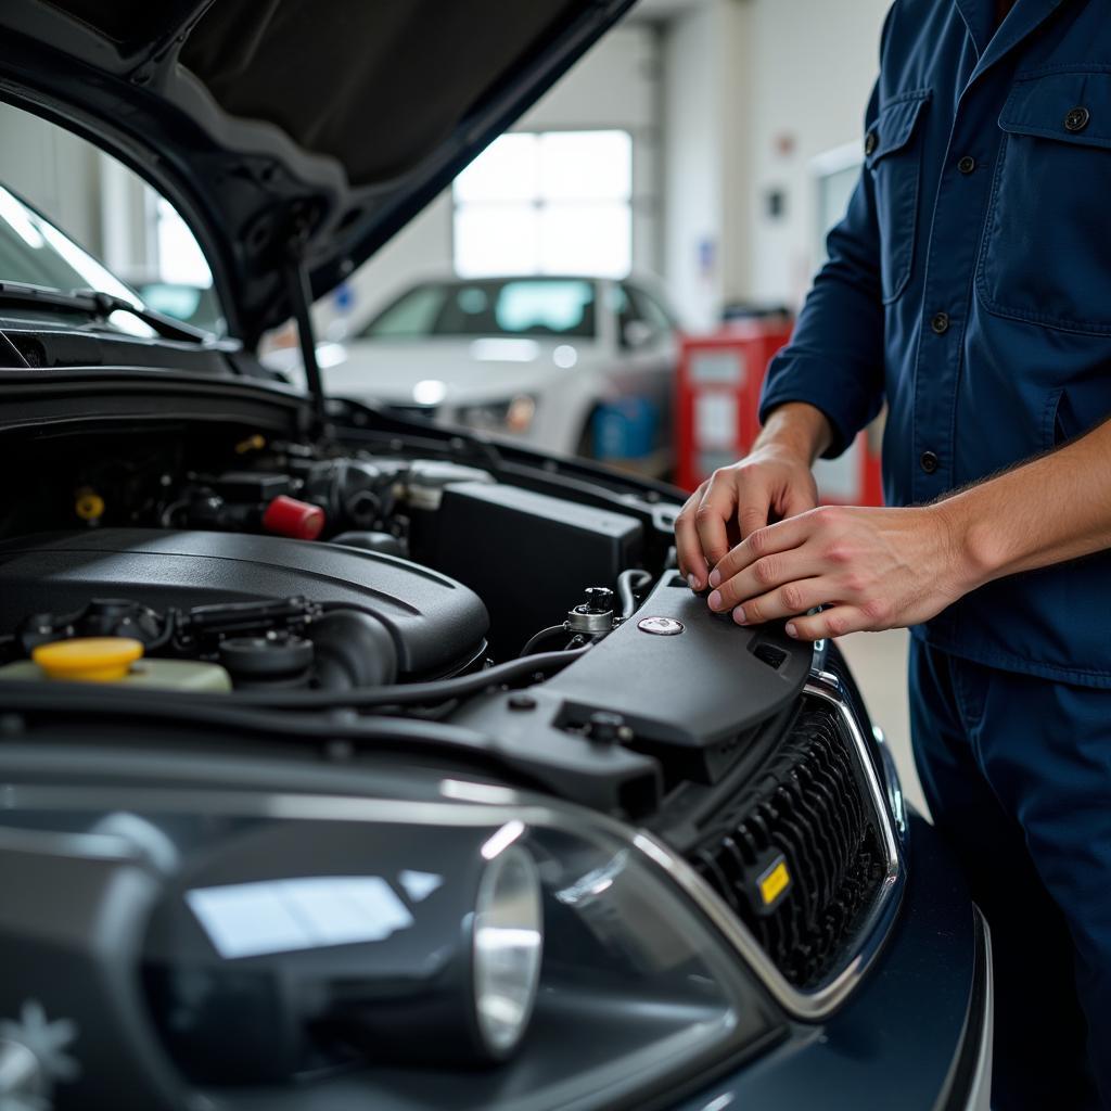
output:
[[[885,399],[905,506],[1111,416],[1108,0],[1018,0],[998,29],[993,0],[897,0],[863,153],[761,418],[810,402],[835,456]],[[913,630],[910,679],[993,930],[994,1105],[1099,1105],[1094,1075],[1111,1108],[1111,554],[969,594]]]

